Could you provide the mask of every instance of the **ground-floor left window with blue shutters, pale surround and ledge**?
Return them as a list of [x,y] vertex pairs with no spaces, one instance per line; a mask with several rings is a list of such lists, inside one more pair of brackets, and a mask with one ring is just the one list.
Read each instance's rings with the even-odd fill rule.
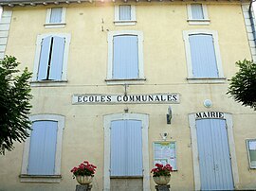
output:
[[32,115],[23,154],[21,182],[60,182],[64,116]]

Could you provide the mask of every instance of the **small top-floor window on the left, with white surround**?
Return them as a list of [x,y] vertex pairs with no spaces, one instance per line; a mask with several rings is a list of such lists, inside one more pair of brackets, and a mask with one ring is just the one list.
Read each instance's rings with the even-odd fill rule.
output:
[[50,8],[46,12],[46,27],[64,27],[65,8]]

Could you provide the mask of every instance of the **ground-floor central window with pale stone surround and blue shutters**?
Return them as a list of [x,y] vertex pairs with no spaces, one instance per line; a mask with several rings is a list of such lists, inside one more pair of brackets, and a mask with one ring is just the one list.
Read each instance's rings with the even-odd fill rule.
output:
[[127,177],[137,178],[143,182],[143,190],[150,190],[148,127],[148,114],[104,116],[104,190],[113,189],[112,181]]

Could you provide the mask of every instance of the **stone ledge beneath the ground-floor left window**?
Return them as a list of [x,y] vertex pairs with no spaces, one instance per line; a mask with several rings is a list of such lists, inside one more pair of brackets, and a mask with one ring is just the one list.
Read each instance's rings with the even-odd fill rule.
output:
[[42,183],[59,183],[62,181],[62,175],[25,175],[19,176],[20,182],[42,182]]

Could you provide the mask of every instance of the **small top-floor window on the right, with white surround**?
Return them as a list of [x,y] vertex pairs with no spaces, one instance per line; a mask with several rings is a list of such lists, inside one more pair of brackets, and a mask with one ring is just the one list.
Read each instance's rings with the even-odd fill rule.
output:
[[188,9],[188,22],[190,25],[209,25],[208,12],[206,5],[203,4],[189,4]]

